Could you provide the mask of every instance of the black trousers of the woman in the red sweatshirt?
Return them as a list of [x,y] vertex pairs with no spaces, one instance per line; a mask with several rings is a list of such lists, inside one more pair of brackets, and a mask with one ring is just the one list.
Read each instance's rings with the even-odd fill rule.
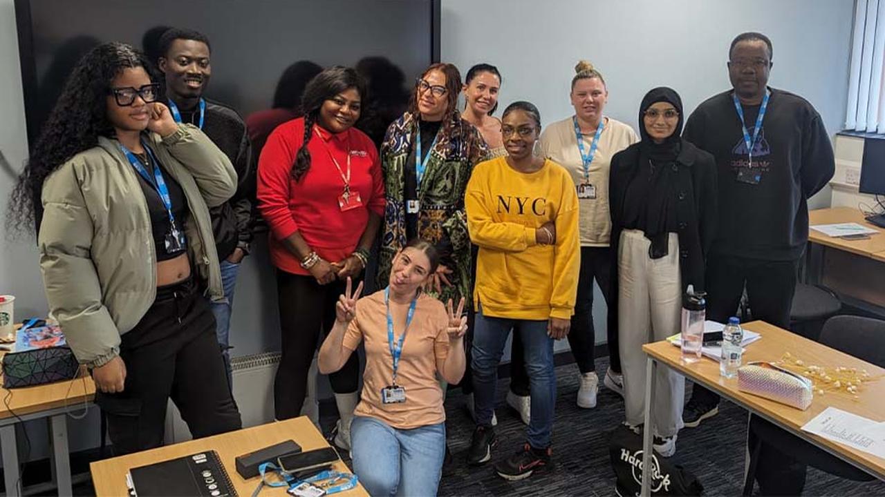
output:
[[[277,419],[297,417],[307,393],[307,374],[319,335],[325,339],[335,325],[335,302],[344,293],[344,281],[320,285],[312,276],[277,270],[282,356],[273,381],[273,409]],[[358,281],[354,281],[358,285]],[[335,394],[352,394],[359,381],[359,357],[350,356],[341,370],[329,375]]]

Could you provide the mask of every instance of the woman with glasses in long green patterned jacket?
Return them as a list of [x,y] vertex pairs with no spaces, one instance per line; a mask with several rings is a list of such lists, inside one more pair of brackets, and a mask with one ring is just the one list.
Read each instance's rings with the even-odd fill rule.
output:
[[473,165],[489,148],[473,125],[461,119],[461,74],[450,64],[427,68],[416,81],[409,110],[396,119],[381,144],[387,207],[377,281],[387,285],[390,264],[406,241],[434,243],[442,264],[426,290],[443,302],[472,302],[470,236],[464,193]]

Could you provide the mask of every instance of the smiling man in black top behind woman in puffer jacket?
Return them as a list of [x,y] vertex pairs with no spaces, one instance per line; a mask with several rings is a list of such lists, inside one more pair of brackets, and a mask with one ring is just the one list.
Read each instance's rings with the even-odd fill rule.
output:
[[230,311],[234,305],[236,275],[242,258],[249,254],[255,212],[252,209],[255,181],[251,175],[249,134],[236,111],[203,97],[212,76],[211,48],[204,34],[173,27],[160,36],[158,49],[156,62],[165,75],[165,92],[173,118],[199,126],[234,164],[239,181],[236,194],[230,200],[209,210],[227,299],[223,303],[212,302],[212,312],[230,381],[227,350],[230,348]]

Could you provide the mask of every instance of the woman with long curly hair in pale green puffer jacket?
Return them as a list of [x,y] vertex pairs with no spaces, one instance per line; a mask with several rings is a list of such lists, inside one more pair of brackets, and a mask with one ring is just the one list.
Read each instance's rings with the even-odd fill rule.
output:
[[33,216],[50,311],[118,454],[163,442],[170,397],[195,438],[241,427],[200,296],[224,297],[207,206],[234,194],[236,172],[156,102],[148,67],[123,43],[83,57],[11,203],[19,227]]

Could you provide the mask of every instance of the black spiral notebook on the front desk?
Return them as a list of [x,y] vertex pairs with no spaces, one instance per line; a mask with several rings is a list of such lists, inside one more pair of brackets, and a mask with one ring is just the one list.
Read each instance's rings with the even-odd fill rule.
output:
[[127,474],[127,485],[135,497],[237,497],[214,450],[133,468]]

